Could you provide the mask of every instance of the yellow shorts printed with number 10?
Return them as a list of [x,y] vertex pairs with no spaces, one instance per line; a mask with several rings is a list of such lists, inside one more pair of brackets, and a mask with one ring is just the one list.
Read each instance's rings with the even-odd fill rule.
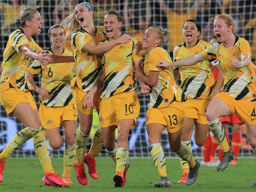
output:
[[121,119],[134,119],[133,127],[140,112],[140,102],[136,91],[119,93],[101,101],[99,126],[117,125]]

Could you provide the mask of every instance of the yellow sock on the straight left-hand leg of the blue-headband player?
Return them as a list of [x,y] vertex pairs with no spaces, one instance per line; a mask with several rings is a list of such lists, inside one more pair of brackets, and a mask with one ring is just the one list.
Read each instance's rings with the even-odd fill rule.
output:
[[84,153],[86,150],[86,143],[89,135],[83,134],[80,129],[77,130],[76,135],[76,154],[77,154],[77,165],[84,164]]

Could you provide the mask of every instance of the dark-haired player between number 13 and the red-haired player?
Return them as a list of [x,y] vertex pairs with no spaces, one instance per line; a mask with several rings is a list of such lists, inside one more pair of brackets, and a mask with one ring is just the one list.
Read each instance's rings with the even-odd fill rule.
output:
[[[183,37],[185,42],[174,48],[174,61],[181,60],[205,50],[209,43],[199,39],[201,26],[198,21],[189,19],[183,24]],[[219,73],[217,83],[213,76],[213,67],[221,71],[219,62],[215,59],[206,60],[189,67],[179,67],[175,70],[176,78],[180,74],[181,89],[187,95],[186,116],[181,136],[182,144],[191,148],[191,136],[194,129],[194,139],[196,145],[202,146],[207,138],[209,125],[206,119],[206,108],[211,97],[219,93],[223,85],[222,73]],[[214,87],[215,86],[215,87]],[[214,89],[213,89],[214,87]],[[183,175],[178,183],[185,183],[189,173],[189,164],[180,158]]]

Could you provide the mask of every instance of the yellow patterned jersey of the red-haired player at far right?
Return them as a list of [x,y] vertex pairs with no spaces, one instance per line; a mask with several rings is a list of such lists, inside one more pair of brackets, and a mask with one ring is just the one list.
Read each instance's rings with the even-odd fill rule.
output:
[[214,43],[202,52],[208,59],[216,59],[225,78],[223,91],[235,100],[256,101],[256,82],[253,63],[246,67],[234,68],[231,59],[241,61],[242,54],[250,54],[249,42],[236,36],[235,44],[227,49],[223,43]]

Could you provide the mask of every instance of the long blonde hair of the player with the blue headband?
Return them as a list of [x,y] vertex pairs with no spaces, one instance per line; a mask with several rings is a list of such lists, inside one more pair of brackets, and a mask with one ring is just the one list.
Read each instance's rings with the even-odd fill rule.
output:
[[[92,5],[89,2],[85,2],[87,4],[89,4],[91,7]],[[89,11],[91,11],[88,7],[86,7]],[[93,9],[93,7],[92,7]],[[67,11],[69,14],[69,16],[67,16],[64,20],[62,20],[62,22],[60,23],[60,26],[63,27],[64,29],[67,29],[67,35],[71,35],[73,32],[75,32],[76,30],[78,30],[80,28],[80,24],[78,23],[77,19],[76,19],[76,15],[75,15],[75,11],[70,12]]]

